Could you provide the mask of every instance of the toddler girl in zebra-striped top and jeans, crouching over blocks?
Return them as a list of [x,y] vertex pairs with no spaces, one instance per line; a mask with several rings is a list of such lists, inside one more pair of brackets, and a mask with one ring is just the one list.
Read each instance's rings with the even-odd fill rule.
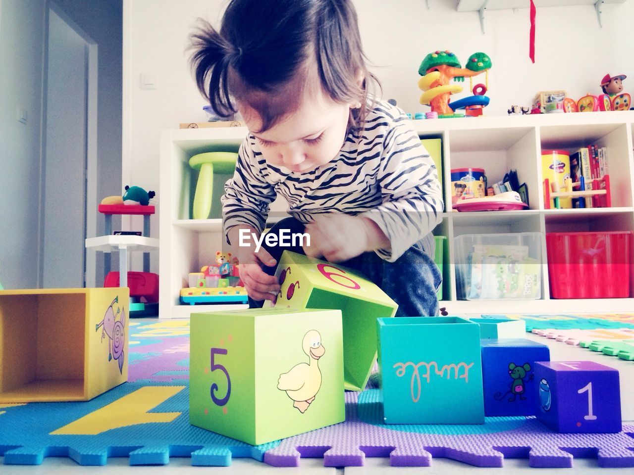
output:
[[[291,250],[362,272],[397,316],[437,315],[437,171],[403,111],[370,94],[351,0],[232,0],[220,30],[204,23],[192,46],[200,92],[249,129],[222,203],[250,305],[275,301],[275,266]],[[291,217],[269,232],[309,244],[247,239],[278,194]]]

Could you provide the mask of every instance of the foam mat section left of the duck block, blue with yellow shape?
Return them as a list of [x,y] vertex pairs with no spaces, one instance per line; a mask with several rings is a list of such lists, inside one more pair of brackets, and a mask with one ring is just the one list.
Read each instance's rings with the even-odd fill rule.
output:
[[4,464],[36,465],[70,457],[101,466],[164,465],[191,457],[195,466],[228,466],[232,457],[262,460],[276,443],[252,447],[191,426],[188,417],[189,320],[130,323],[128,383],[88,402],[0,407]]

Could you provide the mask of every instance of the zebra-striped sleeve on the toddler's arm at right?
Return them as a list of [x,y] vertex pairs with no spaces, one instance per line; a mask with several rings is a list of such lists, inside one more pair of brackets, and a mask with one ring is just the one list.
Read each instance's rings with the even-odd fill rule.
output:
[[383,203],[360,216],[384,232],[390,246],[377,253],[394,262],[441,222],[443,212],[436,166],[410,121],[396,122],[385,135],[377,182]]

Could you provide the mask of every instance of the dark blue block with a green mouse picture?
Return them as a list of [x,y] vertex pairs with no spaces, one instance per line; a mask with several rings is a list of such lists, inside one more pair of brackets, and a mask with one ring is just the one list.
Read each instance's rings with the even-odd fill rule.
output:
[[526,338],[482,339],[481,346],[484,415],[535,415],[533,372],[536,361],[550,360],[548,346]]

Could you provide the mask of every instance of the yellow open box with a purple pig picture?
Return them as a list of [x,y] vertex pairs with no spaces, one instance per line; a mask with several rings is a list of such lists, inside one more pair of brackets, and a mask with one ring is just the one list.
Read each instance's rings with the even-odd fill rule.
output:
[[0,290],[0,403],[86,401],[127,381],[129,289]]

